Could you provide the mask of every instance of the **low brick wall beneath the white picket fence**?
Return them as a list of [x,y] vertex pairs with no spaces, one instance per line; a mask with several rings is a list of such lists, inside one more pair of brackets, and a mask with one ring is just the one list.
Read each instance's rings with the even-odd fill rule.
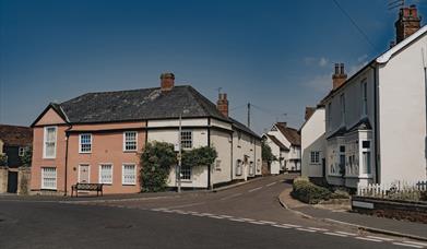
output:
[[352,211],[427,224],[427,202],[352,197]]

